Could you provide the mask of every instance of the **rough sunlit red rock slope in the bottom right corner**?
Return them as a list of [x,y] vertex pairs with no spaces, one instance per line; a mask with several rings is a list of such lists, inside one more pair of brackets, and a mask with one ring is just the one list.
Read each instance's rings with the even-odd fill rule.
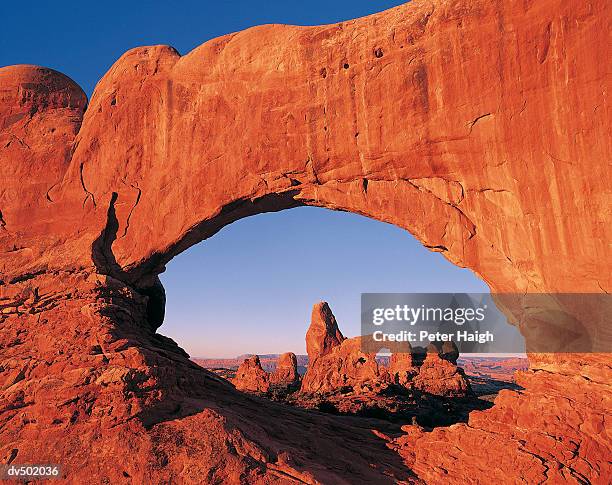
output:
[[[446,481],[445,470],[452,464],[456,467],[453,474],[462,477],[486,474],[500,482],[511,476],[526,483],[603,484],[607,478],[599,475],[607,473],[608,465],[597,457],[609,454],[610,448],[605,418],[598,410],[612,404],[610,394],[601,394],[601,382],[578,376],[570,380],[576,386],[574,395],[582,396],[582,402],[589,402],[592,408],[576,406],[567,399],[567,377],[532,370],[519,374],[519,384],[530,386],[528,390],[501,391],[492,409],[470,414],[468,425],[431,433],[410,431],[396,441],[398,451],[427,483]],[[603,403],[599,402],[602,397]],[[565,421],[554,422],[552,416],[564,416]],[[585,441],[587,433],[602,439]],[[581,453],[586,443],[588,451]],[[479,450],[478,460],[457,459],[457,453],[469,453],[465,450],[470,449]],[[559,466],[562,463],[570,465]],[[593,464],[595,468],[591,468]]]

